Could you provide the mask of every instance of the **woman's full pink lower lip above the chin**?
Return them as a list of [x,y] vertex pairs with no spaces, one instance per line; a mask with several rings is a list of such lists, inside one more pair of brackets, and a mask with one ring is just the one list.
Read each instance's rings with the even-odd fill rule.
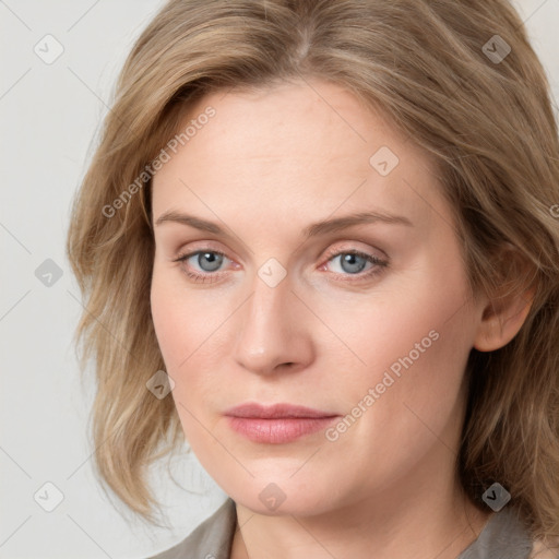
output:
[[306,435],[325,429],[335,417],[284,417],[262,419],[260,417],[228,416],[229,426],[253,442],[281,444],[295,441]]

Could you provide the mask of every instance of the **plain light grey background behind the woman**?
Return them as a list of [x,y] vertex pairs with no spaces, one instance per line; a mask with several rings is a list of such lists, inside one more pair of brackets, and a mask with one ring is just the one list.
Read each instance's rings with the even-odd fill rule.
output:
[[[182,539],[226,498],[185,454],[174,472],[189,492],[165,472],[154,476],[173,530],[127,523],[93,475],[93,383],[81,384],[72,345],[82,304],[64,257],[70,202],[117,73],[160,5],[0,0],[0,559],[145,558]],[[547,70],[557,115],[559,0],[514,5]],[[34,51],[47,34],[64,49],[51,64]],[[62,270],[50,287],[35,276],[46,259]],[[47,481],[63,495],[52,512],[37,503],[56,495]]]

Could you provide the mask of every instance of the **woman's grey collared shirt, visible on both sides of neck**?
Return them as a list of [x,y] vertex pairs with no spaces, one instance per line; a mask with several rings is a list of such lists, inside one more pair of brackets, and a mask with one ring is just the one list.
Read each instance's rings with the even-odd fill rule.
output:
[[[186,539],[150,559],[229,559],[237,527],[235,501],[228,498]],[[491,515],[484,530],[456,559],[528,559],[532,539],[512,508]]]

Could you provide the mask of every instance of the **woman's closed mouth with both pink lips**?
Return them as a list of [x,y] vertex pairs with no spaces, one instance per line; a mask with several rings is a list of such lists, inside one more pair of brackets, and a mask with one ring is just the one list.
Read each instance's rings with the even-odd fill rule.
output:
[[242,404],[225,413],[229,427],[252,442],[282,444],[325,429],[340,417],[292,404]]

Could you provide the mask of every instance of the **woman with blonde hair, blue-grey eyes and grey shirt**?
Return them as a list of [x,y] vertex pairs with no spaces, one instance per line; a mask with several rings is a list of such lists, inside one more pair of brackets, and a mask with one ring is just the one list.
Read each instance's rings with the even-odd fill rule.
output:
[[229,496],[159,558],[557,556],[558,155],[506,0],[160,10],[68,239],[103,479]]

